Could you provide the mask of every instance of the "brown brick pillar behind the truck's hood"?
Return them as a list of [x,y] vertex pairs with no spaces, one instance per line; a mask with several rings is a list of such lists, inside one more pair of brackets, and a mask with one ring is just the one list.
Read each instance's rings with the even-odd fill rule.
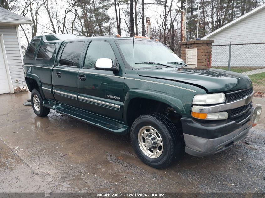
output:
[[195,69],[207,69],[212,63],[212,43],[214,40],[190,40],[180,42],[181,59],[186,63],[186,49],[197,49],[197,67]]

